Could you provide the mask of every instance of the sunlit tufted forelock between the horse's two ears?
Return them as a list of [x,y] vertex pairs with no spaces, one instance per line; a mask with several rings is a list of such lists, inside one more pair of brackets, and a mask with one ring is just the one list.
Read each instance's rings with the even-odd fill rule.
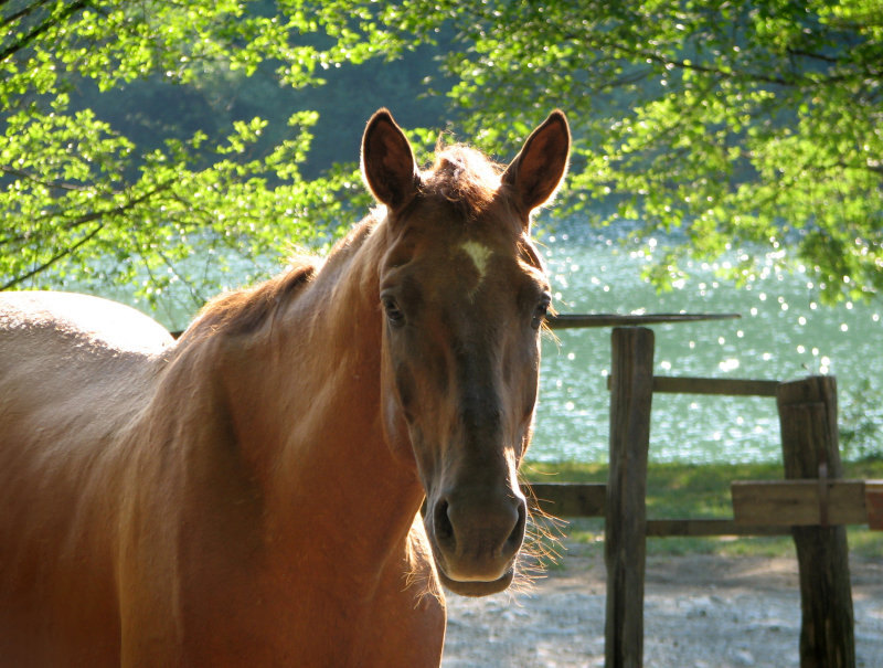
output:
[[444,146],[439,138],[435,163],[424,173],[423,191],[442,195],[476,219],[497,195],[501,173],[501,167],[481,151],[464,144]]

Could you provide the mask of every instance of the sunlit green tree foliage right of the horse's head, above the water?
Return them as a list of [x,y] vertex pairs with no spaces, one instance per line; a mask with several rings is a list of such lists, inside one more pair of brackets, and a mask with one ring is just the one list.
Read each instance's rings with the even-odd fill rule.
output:
[[408,0],[362,28],[395,52],[445,25],[468,134],[511,150],[564,108],[574,210],[684,242],[658,282],[688,250],[747,280],[760,244],[828,300],[883,289],[880,0]]

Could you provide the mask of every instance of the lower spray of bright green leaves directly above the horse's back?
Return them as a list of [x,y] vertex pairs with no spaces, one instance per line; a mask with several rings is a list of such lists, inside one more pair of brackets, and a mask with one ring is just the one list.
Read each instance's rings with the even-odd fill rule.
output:
[[[344,170],[300,178],[315,121],[296,114],[292,137],[264,157],[243,159],[264,127],[254,119],[215,148],[201,134],[170,139],[136,167],[131,145],[88,112],[13,117],[0,142],[0,155],[14,157],[0,192],[9,221],[0,234],[2,287],[129,284],[156,305],[184,285],[195,308],[217,290],[225,263],[242,273],[244,263],[285,255],[295,243],[326,241],[345,213],[338,200],[360,189],[358,174]],[[132,169],[136,177],[119,179]],[[211,273],[194,254],[212,262]],[[252,266],[252,275],[262,271]]]

